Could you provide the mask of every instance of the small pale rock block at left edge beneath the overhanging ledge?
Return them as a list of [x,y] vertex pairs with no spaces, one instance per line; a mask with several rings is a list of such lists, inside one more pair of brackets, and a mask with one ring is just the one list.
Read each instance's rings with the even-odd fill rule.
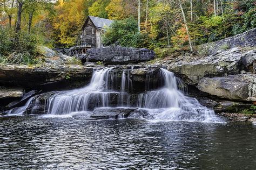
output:
[[23,97],[24,89],[19,87],[0,87],[0,99]]

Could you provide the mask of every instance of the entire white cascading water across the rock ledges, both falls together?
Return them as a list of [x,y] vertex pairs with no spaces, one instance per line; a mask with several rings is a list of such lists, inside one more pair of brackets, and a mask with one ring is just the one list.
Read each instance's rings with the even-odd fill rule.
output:
[[[134,88],[130,79],[130,70],[123,70],[121,82],[119,82],[120,87],[118,87],[117,75],[112,69],[96,69],[88,86],[60,91],[52,95],[48,102],[45,102],[47,103],[45,108],[48,110],[48,114],[66,115],[71,112],[93,110],[97,107],[138,107],[149,113],[144,116],[147,119],[223,122],[214,114],[213,110],[203,107],[195,98],[185,96],[178,89],[174,74],[166,69],[159,69],[160,77],[163,77],[164,80],[164,86],[136,94],[135,100],[134,98],[131,100],[130,95],[132,88]],[[147,76],[146,80],[150,80],[150,75]],[[145,89],[149,90],[149,82],[145,82],[145,86]],[[22,108],[23,112],[28,107],[29,102]],[[38,102],[36,101],[36,103]]]

